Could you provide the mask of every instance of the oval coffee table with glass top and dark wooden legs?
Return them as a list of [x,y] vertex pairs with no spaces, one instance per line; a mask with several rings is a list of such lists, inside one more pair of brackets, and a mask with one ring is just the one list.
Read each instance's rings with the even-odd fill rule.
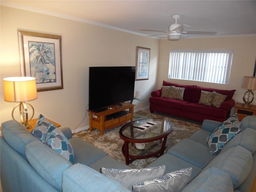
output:
[[172,123],[162,119],[140,119],[125,124],[119,131],[124,140],[122,152],[126,164],[136,159],[159,157],[168,145],[167,136],[172,132]]

